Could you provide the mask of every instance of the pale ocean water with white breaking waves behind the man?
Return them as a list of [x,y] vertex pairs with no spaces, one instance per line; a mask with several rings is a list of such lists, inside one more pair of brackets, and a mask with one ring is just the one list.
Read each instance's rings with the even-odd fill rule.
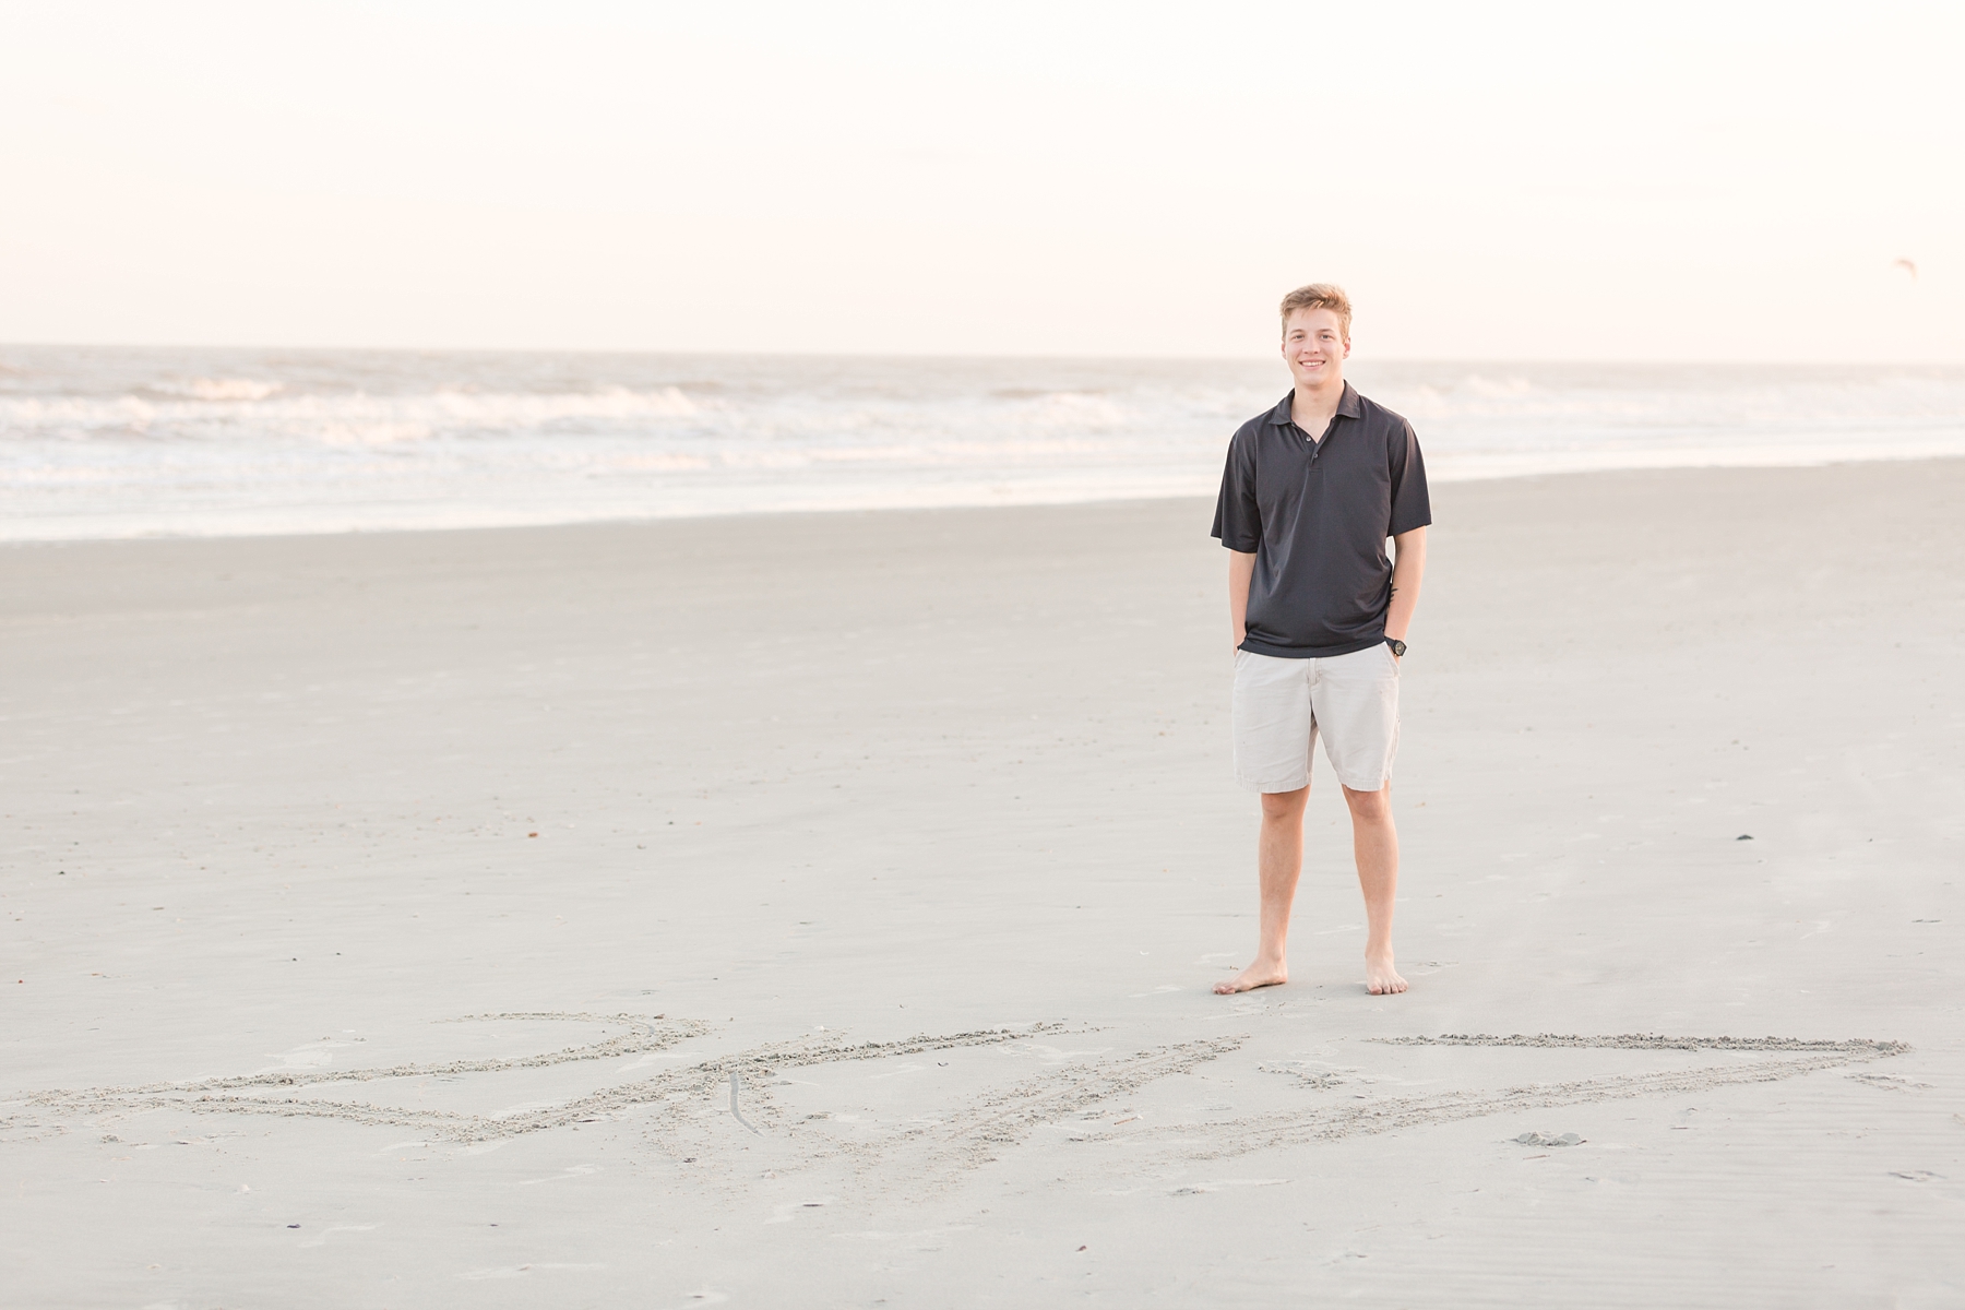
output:
[[[1961,367],[1372,363],[1434,479],[1965,456]],[[0,346],[0,540],[1212,495],[1275,359]]]

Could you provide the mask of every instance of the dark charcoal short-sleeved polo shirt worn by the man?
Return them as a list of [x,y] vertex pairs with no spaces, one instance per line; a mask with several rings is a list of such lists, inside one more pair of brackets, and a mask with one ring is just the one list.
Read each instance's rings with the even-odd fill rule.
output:
[[1293,395],[1230,438],[1214,536],[1256,556],[1242,650],[1311,660],[1385,640],[1385,538],[1432,522],[1432,505],[1413,424],[1344,383],[1311,440]]

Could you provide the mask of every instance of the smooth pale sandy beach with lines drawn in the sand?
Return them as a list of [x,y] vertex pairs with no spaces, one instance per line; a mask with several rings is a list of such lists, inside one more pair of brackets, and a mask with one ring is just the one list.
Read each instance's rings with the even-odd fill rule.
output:
[[0,1300],[1955,1306],[1959,505],[1436,487],[1395,998],[1201,501],[4,546]]

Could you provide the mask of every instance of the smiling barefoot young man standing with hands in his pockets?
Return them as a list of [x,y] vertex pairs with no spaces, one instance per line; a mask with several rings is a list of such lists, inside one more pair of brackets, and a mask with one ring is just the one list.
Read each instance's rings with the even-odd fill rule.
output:
[[[1364,888],[1366,988],[1405,990],[1391,962],[1399,835],[1391,756],[1399,660],[1427,568],[1427,465],[1413,424],[1344,381],[1350,299],[1313,283],[1283,297],[1295,389],[1228,442],[1214,536],[1228,548],[1234,768],[1262,793],[1262,939],[1222,996],[1289,982],[1289,905],[1317,738],[1344,788]],[[1397,546],[1387,558],[1385,538]]]

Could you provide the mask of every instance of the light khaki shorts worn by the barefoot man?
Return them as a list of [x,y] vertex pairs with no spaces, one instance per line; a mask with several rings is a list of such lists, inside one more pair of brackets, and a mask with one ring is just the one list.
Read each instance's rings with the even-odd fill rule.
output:
[[1234,776],[1256,791],[1311,786],[1317,737],[1338,782],[1377,791],[1399,750],[1399,660],[1379,642],[1348,656],[1234,652]]

